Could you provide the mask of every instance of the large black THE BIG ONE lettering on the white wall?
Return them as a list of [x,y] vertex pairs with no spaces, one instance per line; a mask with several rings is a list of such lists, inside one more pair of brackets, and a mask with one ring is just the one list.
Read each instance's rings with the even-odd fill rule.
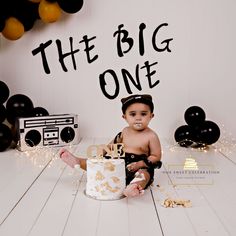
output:
[[[117,30],[113,33],[113,38],[115,38],[115,46],[116,46],[116,55],[118,57],[122,58],[126,54],[128,54],[131,50],[134,50],[134,46],[136,47],[136,50],[138,50],[138,53],[140,56],[145,55],[145,49],[149,45],[149,49],[153,49],[155,53],[161,53],[161,52],[171,52],[170,49],[170,43],[173,40],[173,38],[166,38],[164,40],[160,40],[159,37],[161,35],[162,29],[164,27],[168,27],[167,23],[162,23],[158,25],[153,33],[149,35],[150,38],[145,37],[145,30],[147,28],[145,23],[140,23],[138,26],[138,39],[135,39],[130,36],[129,31],[124,27],[124,24],[119,24],[117,27]],[[91,64],[98,60],[99,55],[94,52],[95,49],[95,39],[97,36],[89,37],[88,35],[84,35],[80,41],[77,41],[79,46],[77,45],[76,48],[74,48],[74,42],[75,40],[72,37],[69,37],[69,44],[70,49],[69,52],[63,52],[63,44],[60,39],[56,39],[55,43],[53,44],[52,40],[48,40],[45,43],[40,43],[39,46],[32,50],[33,56],[40,54],[43,64],[43,69],[46,74],[50,74],[51,70],[49,67],[49,59],[47,58],[46,53],[48,50],[46,50],[49,46],[50,49],[56,49],[58,60],[61,65],[61,68],[64,72],[68,72],[65,59],[71,58],[71,61],[68,60],[67,63],[72,63],[73,69],[77,70],[78,64],[76,61],[76,54],[77,53],[83,53],[85,55],[85,60],[88,64]],[[107,40],[103,39],[102,40]],[[56,47],[55,47],[56,45]],[[54,47],[53,47],[54,46]],[[81,50],[80,46],[84,46],[84,49]],[[151,47],[151,48],[150,48]],[[109,50],[109,49],[108,49]],[[51,52],[51,51],[50,51]],[[158,54],[156,54],[158,55]],[[120,59],[121,60],[121,59]],[[153,89],[156,87],[160,80],[154,77],[156,75],[156,70],[154,66],[156,66],[158,62],[150,63],[148,60],[144,62],[144,64],[140,67],[139,64],[135,65],[135,73],[131,74],[127,69],[122,68],[120,70],[119,76],[113,69],[107,69],[103,73],[99,74],[99,83],[100,83],[100,89],[103,93],[103,95],[108,99],[115,99],[120,92],[120,86],[123,83],[123,86],[125,87],[127,93],[132,94],[133,90],[142,91],[143,83],[148,83],[148,86],[150,89]],[[81,81],[82,82],[82,81]],[[113,85],[112,89],[111,86]],[[110,91],[109,91],[110,90]]]

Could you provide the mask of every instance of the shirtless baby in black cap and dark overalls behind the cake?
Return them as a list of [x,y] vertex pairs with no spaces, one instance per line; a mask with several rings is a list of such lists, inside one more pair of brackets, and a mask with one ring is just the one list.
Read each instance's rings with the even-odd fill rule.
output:
[[[134,197],[142,194],[153,182],[154,169],[161,167],[161,145],[158,135],[148,127],[154,117],[152,97],[148,94],[131,95],[121,99],[122,117],[128,126],[110,142],[123,143],[126,166],[126,188],[123,194]],[[66,149],[60,150],[61,159],[74,168],[86,170],[86,159],[76,157]]]

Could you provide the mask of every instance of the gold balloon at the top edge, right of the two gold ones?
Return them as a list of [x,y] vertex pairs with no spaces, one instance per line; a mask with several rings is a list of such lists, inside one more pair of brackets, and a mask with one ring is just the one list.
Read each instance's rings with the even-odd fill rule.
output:
[[61,8],[57,2],[41,0],[38,11],[41,20],[45,23],[53,23],[61,17]]

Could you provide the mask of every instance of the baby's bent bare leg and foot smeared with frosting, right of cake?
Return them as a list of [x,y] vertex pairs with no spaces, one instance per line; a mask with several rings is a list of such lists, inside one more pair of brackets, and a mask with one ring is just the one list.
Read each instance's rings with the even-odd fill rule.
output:
[[141,169],[135,173],[135,178],[126,186],[123,194],[126,197],[135,197],[144,193],[144,189],[150,180],[150,174]]

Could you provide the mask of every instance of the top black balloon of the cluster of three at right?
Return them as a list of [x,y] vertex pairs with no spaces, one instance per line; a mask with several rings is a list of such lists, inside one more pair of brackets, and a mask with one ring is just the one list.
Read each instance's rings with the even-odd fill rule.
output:
[[205,121],[205,111],[198,106],[189,107],[184,113],[184,119],[188,125],[198,125]]

